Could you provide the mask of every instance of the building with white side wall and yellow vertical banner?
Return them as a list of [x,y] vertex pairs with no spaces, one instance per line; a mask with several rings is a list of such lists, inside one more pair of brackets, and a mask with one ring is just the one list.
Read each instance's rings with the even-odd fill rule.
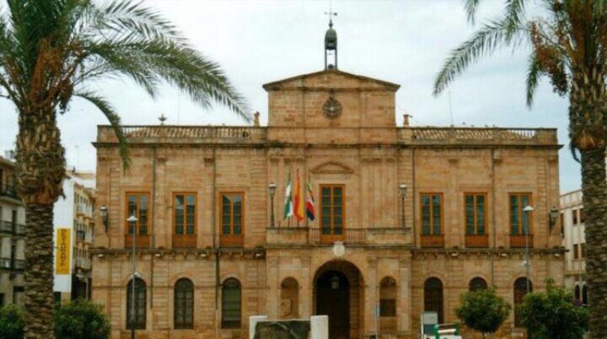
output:
[[[55,227],[55,301],[90,298],[90,252],[93,241],[93,213],[95,211],[95,173],[66,171],[63,198],[53,208]],[[70,246],[62,252],[69,255],[69,269],[58,274],[58,229],[68,229]]]

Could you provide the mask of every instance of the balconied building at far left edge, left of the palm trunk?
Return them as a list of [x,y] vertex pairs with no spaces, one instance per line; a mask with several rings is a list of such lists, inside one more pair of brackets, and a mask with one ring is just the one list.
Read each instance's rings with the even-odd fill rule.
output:
[[15,163],[0,156],[0,306],[22,305],[25,207],[17,195]]

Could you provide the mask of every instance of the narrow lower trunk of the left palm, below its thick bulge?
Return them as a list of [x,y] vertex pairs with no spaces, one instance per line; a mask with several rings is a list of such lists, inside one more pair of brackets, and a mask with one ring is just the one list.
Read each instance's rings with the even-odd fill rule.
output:
[[25,204],[25,338],[53,338],[53,204]]

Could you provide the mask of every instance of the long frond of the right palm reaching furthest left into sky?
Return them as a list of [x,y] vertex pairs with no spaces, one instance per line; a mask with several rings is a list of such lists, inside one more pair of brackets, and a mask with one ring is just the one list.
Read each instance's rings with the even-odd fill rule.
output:
[[449,86],[455,76],[464,72],[470,63],[492,53],[500,45],[509,45],[522,36],[524,27],[512,26],[507,19],[492,20],[483,25],[472,38],[452,50],[443,68],[436,76],[433,95],[438,95]]

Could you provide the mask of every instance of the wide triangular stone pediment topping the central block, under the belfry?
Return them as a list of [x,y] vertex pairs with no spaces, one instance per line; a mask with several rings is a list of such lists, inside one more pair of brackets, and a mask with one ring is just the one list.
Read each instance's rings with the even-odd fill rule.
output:
[[396,91],[399,85],[392,82],[368,78],[367,76],[342,72],[341,70],[322,70],[320,72],[297,75],[279,81],[268,82],[263,85],[265,90],[277,89],[323,89],[323,88],[351,88],[351,89],[386,89]]

